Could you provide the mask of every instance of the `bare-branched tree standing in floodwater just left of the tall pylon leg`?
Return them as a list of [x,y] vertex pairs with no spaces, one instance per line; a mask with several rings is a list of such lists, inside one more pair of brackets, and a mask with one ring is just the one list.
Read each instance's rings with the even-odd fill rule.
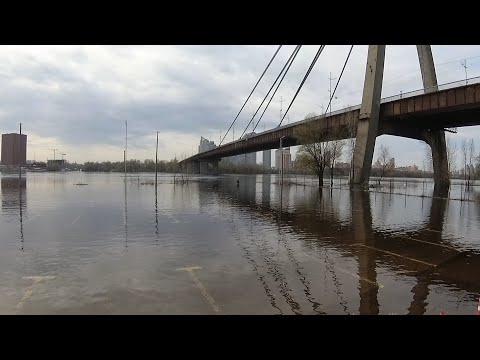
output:
[[[309,113],[305,119],[316,116]],[[295,137],[302,144],[297,152],[296,163],[303,168],[312,171],[318,176],[318,186],[323,186],[323,173],[325,167],[330,164],[329,144],[325,133],[321,131],[320,125],[315,122],[308,122],[295,130]]]

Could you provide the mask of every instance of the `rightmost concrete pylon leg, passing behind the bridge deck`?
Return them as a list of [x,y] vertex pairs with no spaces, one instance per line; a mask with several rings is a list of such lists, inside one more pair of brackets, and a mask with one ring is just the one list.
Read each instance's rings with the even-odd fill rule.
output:
[[[432,48],[430,45],[417,45],[418,61],[422,73],[423,89],[425,93],[438,91],[437,74],[433,62]],[[447,196],[450,187],[448,169],[447,144],[445,131],[425,131],[425,142],[430,145],[433,160],[433,179],[435,181],[434,194]]]

